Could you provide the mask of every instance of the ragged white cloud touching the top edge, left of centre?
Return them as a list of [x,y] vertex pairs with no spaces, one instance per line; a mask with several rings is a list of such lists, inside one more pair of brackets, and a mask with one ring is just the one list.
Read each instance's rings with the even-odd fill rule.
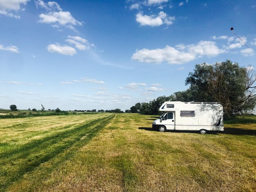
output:
[[47,13],[41,13],[39,15],[40,20],[38,22],[53,24],[52,27],[59,27],[59,25],[65,26],[69,29],[76,31],[76,25],[82,25],[82,22],[76,20],[69,11],[62,11],[60,5],[56,2],[48,2],[47,4],[42,0],[36,1],[37,7],[46,9]]

